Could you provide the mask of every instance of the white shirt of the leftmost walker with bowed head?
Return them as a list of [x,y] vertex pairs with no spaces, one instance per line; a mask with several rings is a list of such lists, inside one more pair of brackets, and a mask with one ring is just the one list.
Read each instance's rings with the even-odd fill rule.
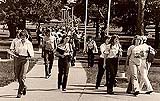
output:
[[15,47],[16,53],[21,56],[28,56],[34,57],[34,50],[32,43],[26,39],[24,43],[21,40],[17,41]]

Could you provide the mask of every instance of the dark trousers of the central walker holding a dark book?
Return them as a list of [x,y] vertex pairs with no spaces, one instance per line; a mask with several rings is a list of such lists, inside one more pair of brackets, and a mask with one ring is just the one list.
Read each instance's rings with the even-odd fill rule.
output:
[[59,57],[58,59],[58,88],[62,85],[65,89],[67,85],[67,78],[69,72],[69,56],[64,58]]

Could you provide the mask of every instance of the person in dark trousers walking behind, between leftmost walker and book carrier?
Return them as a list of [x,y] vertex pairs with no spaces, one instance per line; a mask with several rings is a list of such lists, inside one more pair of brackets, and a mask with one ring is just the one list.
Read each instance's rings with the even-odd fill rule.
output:
[[43,45],[44,45],[43,47],[44,47],[45,77],[46,79],[48,79],[51,76],[54,53],[57,47],[56,39],[54,36],[51,36],[49,29],[45,31]]

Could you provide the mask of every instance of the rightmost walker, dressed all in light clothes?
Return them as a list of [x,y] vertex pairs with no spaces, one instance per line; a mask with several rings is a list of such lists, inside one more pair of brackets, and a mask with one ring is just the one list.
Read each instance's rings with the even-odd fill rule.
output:
[[139,87],[140,87],[140,90],[142,90],[144,84],[146,85],[147,87],[147,91],[146,91],[146,94],[150,94],[153,92],[153,88],[152,88],[152,85],[148,79],[148,71],[150,69],[150,66],[151,66],[151,61],[148,60],[148,54],[149,52],[151,52],[153,55],[155,55],[155,50],[150,46],[150,45],[147,45],[147,37],[146,36],[141,36],[142,37],[142,41],[143,43],[139,46],[142,48],[143,50],[143,53],[144,53],[144,57],[142,57],[142,64],[141,64],[141,67],[140,67],[140,74],[141,74],[141,79],[140,79],[140,84],[139,84]]

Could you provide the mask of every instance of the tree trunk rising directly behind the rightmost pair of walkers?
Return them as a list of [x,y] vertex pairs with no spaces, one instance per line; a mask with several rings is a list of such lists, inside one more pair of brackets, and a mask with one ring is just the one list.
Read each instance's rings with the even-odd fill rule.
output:
[[138,0],[137,34],[144,35],[144,6],[146,0]]

